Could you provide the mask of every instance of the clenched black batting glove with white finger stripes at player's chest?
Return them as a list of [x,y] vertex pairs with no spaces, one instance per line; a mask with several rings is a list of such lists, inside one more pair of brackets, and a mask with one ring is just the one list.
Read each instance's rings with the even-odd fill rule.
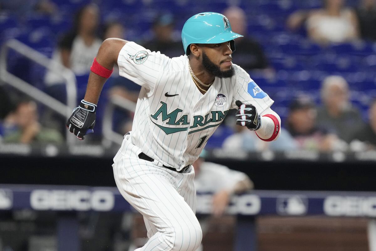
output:
[[239,107],[235,115],[237,117],[236,124],[247,126],[251,131],[258,130],[261,126],[261,120],[256,107],[251,104],[243,104],[240,100],[236,100],[235,104]]

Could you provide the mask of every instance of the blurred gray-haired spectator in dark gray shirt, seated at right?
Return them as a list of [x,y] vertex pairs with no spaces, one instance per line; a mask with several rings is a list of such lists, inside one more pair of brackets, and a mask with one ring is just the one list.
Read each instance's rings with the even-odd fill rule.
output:
[[364,125],[361,113],[349,101],[349,84],[341,76],[328,76],[321,86],[317,125],[349,142],[351,135]]

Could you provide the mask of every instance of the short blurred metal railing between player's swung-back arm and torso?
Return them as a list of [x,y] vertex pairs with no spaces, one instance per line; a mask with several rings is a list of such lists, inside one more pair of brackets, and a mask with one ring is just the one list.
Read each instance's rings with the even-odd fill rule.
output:
[[105,113],[103,116],[103,124],[102,124],[102,134],[103,134],[103,141],[102,144],[104,146],[110,146],[112,142],[115,142],[121,145],[123,141],[124,135],[121,135],[115,132],[112,129],[112,118],[114,116],[114,110],[116,107],[120,107],[124,110],[135,112],[136,111],[136,103],[125,99],[119,96],[113,96],[108,100],[108,103],[105,108]]

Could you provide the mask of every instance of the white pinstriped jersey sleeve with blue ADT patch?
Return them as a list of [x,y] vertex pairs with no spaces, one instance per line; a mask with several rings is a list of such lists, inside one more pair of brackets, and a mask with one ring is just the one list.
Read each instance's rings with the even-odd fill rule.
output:
[[249,74],[240,67],[236,67],[237,85],[233,93],[231,108],[238,109],[235,104],[236,100],[240,100],[245,104],[252,104],[256,107],[259,114],[262,114],[269,108],[274,101],[253,81]]

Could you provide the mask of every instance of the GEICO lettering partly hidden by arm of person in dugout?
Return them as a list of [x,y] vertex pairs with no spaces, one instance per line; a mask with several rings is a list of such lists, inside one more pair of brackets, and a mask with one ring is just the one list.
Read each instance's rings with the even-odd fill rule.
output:
[[[197,213],[210,214],[212,213],[212,195],[197,195]],[[260,212],[261,200],[257,195],[240,195],[233,196],[227,213],[229,214],[243,214],[255,215]]]

